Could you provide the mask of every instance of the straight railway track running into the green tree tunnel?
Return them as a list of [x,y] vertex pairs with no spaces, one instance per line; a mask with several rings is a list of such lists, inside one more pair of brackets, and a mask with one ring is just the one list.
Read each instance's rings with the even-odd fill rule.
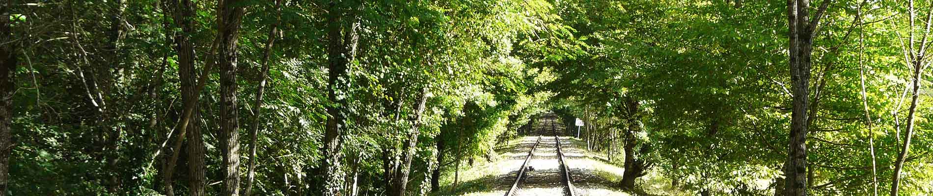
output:
[[[556,117],[557,116],[553,114],[542,115],[540,118],[542,121],[538,122],[540,124],[538,124],[538,126],[536,127],[537,129],[536,131],[539,134],[541,134],[542,132],[553,134],[553,143],[552,143],[552,145],[554,145],[553,150],[552,150],[553,152],[550,152],[550,150],[541,150],[540,148],[538,148],[538,145],[542,144],[543,139],[550,140],[547,137],[539,135],[535,141],[535,144],[532,146],[531,150],[528,151],[528,155],[527,157],[525,157],[524,162],[522,162],[522,166],[519,167],[515,181],[512,183],[511,188],[509,188],[506,191],[505,196],[529,195],[529,194],[530,195],[541,195],[542,194],[540,192],[524,193],[524,194],[520,193],[522,192],[522,189],[525,189],[525,188],[545,189],[544,194],[550,195],[555,192],[548,191],[548,190],[554,189],[555,186],[561,187],[563,195],[569,195],[569,196],[575,195],[574,187],[573,187],[573,179],[572,179],[572,176],[570,176],[570,167],[567,166],[567,164],[564,162],[564,150],[561,147],[562,145],[561,137],[559,137],[557,134],[557,127],[555,124],[558,124],[558,123],[557,123]],[[546,141],[545,143],[551,144],[548,141]],[[550,159],[540,160],[540,161],[544,161],[545,163],[538,163],[538,166],[548,165],[549,163],[547,162],[551,162],[551,163],[557,162],[557,168],[554,168],[554,169],[539,168],[538,170],[534,169],[534,165],[532,165],[532,162],[535,159],[536,150],[539,151],[539,153],[544,152],[537,156],[554,156],[554,160],[552,161]],[[553,153],[553,155],[551,155],[548,152]],[[536,173],[536,174],[531,175],[529,173]],[[529,180],[532,181],[532,183],[526,184],[526,181],[529,181]]]

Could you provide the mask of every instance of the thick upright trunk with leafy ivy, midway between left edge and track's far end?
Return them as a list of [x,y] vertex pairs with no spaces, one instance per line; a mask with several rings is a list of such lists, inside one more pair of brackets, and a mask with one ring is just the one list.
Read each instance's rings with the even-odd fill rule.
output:
[[325,196],[340,195],[340,167],[341,167],[341,129],[343,128],[343,114],[341,114],[343,100],[337,98],[337,93],[345,90],[340,85],[341,78],[346,77],[347,64],[344,56],[346,47],[343,46],[341,35],[342,8],[336,1],[331,1],[327,7],[327,99],[332,103],[327,105],[327,124],[324,132],[324,189]]

